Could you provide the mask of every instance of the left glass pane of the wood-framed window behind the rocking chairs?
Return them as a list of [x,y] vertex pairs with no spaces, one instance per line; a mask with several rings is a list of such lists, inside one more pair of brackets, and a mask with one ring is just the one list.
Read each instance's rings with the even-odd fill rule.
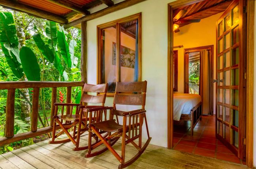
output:
[[116,88],[116,28],[102,30],[102,83],[108,83],[108,92]]

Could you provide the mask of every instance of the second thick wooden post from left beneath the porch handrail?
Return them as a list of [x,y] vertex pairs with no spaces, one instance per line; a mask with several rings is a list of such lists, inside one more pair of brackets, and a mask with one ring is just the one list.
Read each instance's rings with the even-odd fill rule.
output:
[[33,101],[32,101],[32,114],[31,114],[31,131],[37,131],[37,118],[38,118],[38,101],[39,101],[39,88],[33,89]]

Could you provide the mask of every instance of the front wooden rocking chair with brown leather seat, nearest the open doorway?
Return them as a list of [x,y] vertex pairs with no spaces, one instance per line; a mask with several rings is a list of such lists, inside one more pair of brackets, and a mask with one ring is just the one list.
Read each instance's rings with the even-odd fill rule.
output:
[[[144,109],[146,102],[146,88],[147,81],[143,82],[117,82],[116,90],[114,94],[113,107],[104,107],[104,108],[89,108],[89,111],[106,111],[110,110],[110,120],[105,120],[102,122],[90,123],[89,124],[89,141],[88,141],[88,153],[86,157],[93,157],[95,155],[101,154],[106,150],[110,150],[111,153],[117,158],[121,163],[118,168],[125,168],[131,165],[136,161],[143,151],[148,146],[151,137],[149,136],[147,119],[146,119],[146,110]],[[137,93],[137,94],[135,94]],[[142,105],[142,109],[134,111],[119,111],[116,110],[116,104],[121,105]],[[113,119],[113,115],[123,116],[123,125],[120,125]],[[91,115],[90,115],[91,116]],[[91,117],[90,117],[91,118]],[[127,125],[128,119],[128,125]],[[144,146],[142,147],[142,125],[145,119],[147,136],[148,139]],[[101,132],[108,132],[108,137],[102,137]],[[96,134],[101,142],[91,144],[91,137],[93,134]],[[122,137],[122,150],[121,156],[112,148],[114,143]],[[134,142],[136,139],[139,139],[138,145]],[[105,144],[105,148],[91,152],[101,144]],[[131,158],[129,161],[125,162],[125,145],[132,143],[132,145],[138,149],[138,153]]]

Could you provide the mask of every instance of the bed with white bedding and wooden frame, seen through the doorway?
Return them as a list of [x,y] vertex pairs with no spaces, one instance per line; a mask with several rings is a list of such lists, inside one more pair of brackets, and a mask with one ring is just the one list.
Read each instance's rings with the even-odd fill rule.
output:
[[196,123],[202,120],[202,99],[200,95],[173,94],[173,120],[191,121],[191,135]]

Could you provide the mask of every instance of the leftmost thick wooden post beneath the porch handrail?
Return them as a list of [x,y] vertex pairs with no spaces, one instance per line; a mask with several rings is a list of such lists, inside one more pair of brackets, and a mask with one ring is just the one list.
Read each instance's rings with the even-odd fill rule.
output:
[[7,138],[14,136],[14,105],[15,89],[8,89],[6,101],[6,117],[4,135]]

